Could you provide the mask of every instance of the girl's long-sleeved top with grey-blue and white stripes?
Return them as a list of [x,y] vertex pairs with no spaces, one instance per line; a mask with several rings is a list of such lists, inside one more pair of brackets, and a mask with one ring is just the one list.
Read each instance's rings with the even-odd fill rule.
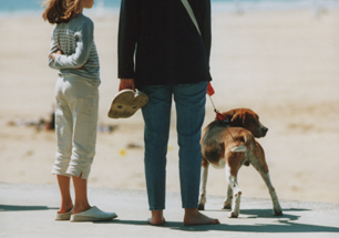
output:
[[[100,80],[100,64],[94,43],[93,21],[79,13],[68,23],[59,23],[51,34],[49,66],[60,70],[60,73],[72,73],[92,80]],[[81,69],[79,69],[81,68]]]

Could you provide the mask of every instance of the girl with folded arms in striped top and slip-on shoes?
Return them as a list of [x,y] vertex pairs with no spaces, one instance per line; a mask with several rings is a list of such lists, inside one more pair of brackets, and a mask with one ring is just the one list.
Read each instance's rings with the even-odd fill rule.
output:
[[[91,207],[88,177],[95,154],[99,107],[99,58],[93,22],[83,15],[94,0],[47,0],[44,20],[55,24],[51,35],[49,66],[59,70],[55,85],[56,158],[52,169],[61,193],[56,220],[111,220],[114,213]],[[73,179],[75,200],[70,194]]]

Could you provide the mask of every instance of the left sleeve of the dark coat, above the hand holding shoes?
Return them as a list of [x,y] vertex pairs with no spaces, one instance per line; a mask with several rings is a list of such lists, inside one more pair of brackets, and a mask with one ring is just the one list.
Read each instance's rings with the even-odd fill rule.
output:
[[137,0],[122,0],[117,38],[119,79],[134,79],[134,52],[140,33]]

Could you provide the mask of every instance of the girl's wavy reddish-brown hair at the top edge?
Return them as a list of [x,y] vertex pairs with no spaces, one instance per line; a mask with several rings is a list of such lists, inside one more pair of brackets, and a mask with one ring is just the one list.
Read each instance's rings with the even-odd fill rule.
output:
[[68,22],[82,10],[81,0],[47,0],[42,18],[51,24]]

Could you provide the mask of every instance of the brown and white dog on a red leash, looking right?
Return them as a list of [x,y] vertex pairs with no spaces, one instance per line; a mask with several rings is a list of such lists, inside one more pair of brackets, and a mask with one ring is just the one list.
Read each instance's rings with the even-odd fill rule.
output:
[[237,108],[225,112],[223,115],[226,120],[216,120],[207,125],[201,139],[203,169],[199,209],[205,208],[208,166],[212,164],[217,168],[225,167],[228,188],[223,208],[232,209],[228,217],[238,217],[242,190],[237,184],[237,174],[243,165],[251,164],[268,187],[274,215],[281,216],[282,210],[270,183],[264,149],[255,139],[255,137],[264,137],[268,128],[259,122],[259,116],[251,110]]

